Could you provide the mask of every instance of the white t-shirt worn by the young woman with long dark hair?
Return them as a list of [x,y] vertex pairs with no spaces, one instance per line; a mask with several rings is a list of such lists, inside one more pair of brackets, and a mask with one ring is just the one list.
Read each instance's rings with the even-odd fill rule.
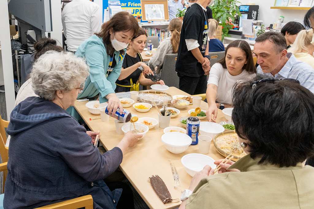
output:
[[241,74],[232,76],[220,63],[215,63],[210,68],[207,85],[212,83],[218,87],[216,101],[222,104],[232,105],[232,88],[237,80],[250,79],[254,75],[255,73],[249,74],[244,70]]

